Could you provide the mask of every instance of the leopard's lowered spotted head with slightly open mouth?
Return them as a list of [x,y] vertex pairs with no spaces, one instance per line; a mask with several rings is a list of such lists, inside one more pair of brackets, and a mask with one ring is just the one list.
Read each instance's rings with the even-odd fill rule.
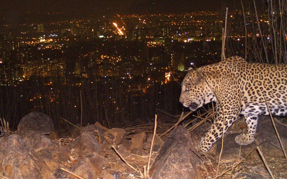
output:
[[202,68],[198,68],[197,70],[189,68],[187,75],[181,83],[179,102],[191,111],[195,111],[197,108],[210,102],[210,99],[207,99],[210,96],[209,93],[210,88],[204,81]]

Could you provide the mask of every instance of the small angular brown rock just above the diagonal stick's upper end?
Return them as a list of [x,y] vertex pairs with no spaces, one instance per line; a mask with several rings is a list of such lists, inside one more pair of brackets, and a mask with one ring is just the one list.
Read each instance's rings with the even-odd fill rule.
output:
[[126,131],[120,128],[112,128],[104,133],[105,139],[110,145],[117,145],[120,143],[120,140],[125,135]]

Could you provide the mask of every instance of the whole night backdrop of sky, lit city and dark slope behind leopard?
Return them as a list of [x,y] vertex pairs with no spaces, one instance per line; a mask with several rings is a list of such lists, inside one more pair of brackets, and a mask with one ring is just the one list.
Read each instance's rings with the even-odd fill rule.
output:
[[[103,122],[106,115],[120,123],[155,109],[180,112],[186,70],[221,59],[230,3],[15,2],[0,2],[0,110],[7,119],[42,111],[75,124],[79,97],[89,101],[83,104],[86,124]],[[244,21],[239,5],[229,7],[227,18],[227,56],[243,56],[245,39],[270,38],[254,28],[252,9],[246,9]],[[259,25],[268,30],[268,24],[268,16],[260,15]],[[250,46],[246,51],[254,57]]]

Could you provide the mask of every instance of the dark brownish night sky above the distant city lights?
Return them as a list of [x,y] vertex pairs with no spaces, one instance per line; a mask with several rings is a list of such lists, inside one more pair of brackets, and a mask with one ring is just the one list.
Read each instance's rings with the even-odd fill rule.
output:
[[[115,16],[115,14],[225,11],[225,7],[240,9],[240,0],[2,0],[0,1],[0,17],[2,23],[3,21],[21,22],[25,19],[27,21],[27,18],[50,13],[50,16],[45,16],[42,20],[57,21],[57,18],[63,20],[65,18]],[[52,16],[57,13],[57,16]],[[4,20],[3,17],[5,17]]]

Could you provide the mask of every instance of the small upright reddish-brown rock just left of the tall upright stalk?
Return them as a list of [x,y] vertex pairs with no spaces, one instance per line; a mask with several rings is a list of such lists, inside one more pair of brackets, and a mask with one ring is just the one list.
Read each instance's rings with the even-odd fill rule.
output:
[[144,152],[143,147],[144,147],[145,141],[146,141],[145,132],[136,134],[131,140],[132,145],[129,146],[129,150],[131,150],[133,154],[143,155],[143,152]]

